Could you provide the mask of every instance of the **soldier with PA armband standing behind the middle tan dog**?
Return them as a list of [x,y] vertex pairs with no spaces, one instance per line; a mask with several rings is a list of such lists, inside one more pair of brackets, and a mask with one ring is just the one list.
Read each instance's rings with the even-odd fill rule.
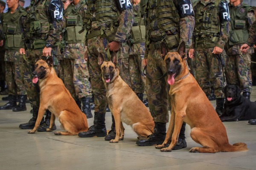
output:
[[[118,51],[126,39],[133,24],[132,5],[129,0],[90,0],[86,13],[85,31],[87,31],[87,62],[94,93],[94,122],[87,132],[78,134],[80,137],[103,137],[107,135],[105,126],[106,89],[98,64],[99,53],[107,57],[107,51]],[[111,127],[113,129],[113,125]],[[112,130],[114,131],[114,130]],[[111,133],[105,140],[115,138]]]

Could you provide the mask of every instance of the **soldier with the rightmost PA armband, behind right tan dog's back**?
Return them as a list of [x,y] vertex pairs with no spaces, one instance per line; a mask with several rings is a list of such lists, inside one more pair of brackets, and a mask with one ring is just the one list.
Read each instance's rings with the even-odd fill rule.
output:
[[226,0],[200,0],[194,8],[195,30],[189,57],[194,58],[195,79],[209,96],[211,83],[216,96],[216,112],[220,116],[224,108],[225,87],[224,45],[230,28],[230,17]]

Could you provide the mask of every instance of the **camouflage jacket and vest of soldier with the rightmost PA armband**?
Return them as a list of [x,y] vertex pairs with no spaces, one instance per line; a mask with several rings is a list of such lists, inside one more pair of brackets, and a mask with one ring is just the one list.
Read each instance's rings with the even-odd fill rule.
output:
[[[195,49],[198,44],[202,44],[205,45],[205,48],[217,46],[224,49],[230,30],[230,18],[226,16],[228,18],[221,22],[221,17],[224,17],[224,15],[221,15],[220,6],[223,3],[227,4],[227,1],[209,0],[206,4],[204,2],[204,0],[200,0],[194,4],[196,23],[192,38],[192,48]],[[212,31],[213,26],[218,30]]]

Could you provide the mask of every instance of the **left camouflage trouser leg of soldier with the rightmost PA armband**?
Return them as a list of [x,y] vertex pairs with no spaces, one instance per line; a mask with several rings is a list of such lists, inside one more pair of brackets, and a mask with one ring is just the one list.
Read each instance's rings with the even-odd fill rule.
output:
[[200,47],[195,50],[195,79],[207,96],[211,94],[209,63],[207,61],[208,52],[207,49],[202,49]]

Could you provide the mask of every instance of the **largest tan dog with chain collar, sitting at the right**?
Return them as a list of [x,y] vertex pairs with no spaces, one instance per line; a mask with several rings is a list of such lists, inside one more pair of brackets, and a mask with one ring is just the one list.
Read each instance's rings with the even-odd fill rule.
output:
[[[177,144],[181,125],[184,122],[191,127],[191,138],[203,147],[192,147],[189,152],[215,153],[248,150],[245,143],[229,144],[226,128],[215,109],[207,99],[195,78],[189,74],[185,59],[185,43],[180,44],[178,52],[168,52],[162,44],[162,56],[165,61],[170,85],[172,114],[166,139],[157,149],[172,151]],[[166,144],[171,141],[169,147]]]

